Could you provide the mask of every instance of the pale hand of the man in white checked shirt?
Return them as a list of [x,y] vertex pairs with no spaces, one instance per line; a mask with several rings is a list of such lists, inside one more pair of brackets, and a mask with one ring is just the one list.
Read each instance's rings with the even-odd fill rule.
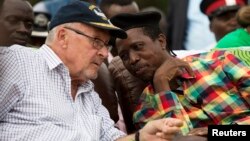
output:
[[171,141],[182,125],[183,122],[175,118],[150,121],[140,130],[140,141]]

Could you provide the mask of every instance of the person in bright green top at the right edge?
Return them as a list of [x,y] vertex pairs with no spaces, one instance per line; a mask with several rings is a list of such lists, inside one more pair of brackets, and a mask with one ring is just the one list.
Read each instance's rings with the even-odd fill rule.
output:
[[241,28],[228,33],[216,45],[216,48],[250,47],[250,6],[242,7],[237,13]]

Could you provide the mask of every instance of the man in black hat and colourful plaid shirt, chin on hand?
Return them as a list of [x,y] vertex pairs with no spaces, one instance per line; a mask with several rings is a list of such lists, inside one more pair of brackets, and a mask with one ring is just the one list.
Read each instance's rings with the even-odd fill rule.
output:
[[126,30],[117,39],[126,68],[148,82],[134,113],[143,126],[163,117],[182,119],[182,133],[211,124],[250,124],[250,69],[233,53],[215,50],[188,56],[171,55],[159,30],[160,14],[120,14],[111,22]]

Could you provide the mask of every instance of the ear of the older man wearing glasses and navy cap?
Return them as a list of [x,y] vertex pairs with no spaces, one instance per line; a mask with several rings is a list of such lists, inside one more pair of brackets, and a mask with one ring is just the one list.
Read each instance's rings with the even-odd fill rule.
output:
[[56,37],[57,37],[60,47],[67,48],[69,37],[68,37],[67,31],[64,28],[60,28],[58,30]]

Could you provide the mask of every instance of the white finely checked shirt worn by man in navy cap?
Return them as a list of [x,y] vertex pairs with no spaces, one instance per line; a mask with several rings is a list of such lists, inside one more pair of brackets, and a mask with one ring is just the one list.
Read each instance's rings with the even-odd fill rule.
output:
[[48,46],[0,48],[1,141],[111,141],[124,135],[91,81],[73,101],[69,71]]

